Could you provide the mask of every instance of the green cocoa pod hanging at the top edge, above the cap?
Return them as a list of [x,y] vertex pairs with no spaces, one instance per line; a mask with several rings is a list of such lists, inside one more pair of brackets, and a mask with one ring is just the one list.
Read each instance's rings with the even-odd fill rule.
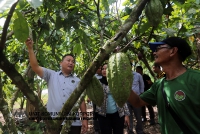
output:
[[163,5],[161,1],[150,0],[145,6],[145,15],[152,26],[158,26],[163,15]]

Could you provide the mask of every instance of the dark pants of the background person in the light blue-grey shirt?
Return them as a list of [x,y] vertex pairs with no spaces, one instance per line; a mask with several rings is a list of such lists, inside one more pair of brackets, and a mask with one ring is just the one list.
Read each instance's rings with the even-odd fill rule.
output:
[[128,134],[133,134],[133,112],[135,115],[135,118],[137,120],[137,124],[135,127],[135,130],[137,134],[143,134],[143,124],[142,124],[142,118],[141,118],[141,108],[135,108],[130,103],[127,102],[128,109],[130,111],[130,126],[129,126],[129,132]]

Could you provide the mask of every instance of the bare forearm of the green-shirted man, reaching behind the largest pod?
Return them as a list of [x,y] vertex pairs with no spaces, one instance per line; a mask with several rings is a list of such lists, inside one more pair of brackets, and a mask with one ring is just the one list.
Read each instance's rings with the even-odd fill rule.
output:
[[133,90],[131,90],[128,102],[134,107],[142,107],[147,105]]

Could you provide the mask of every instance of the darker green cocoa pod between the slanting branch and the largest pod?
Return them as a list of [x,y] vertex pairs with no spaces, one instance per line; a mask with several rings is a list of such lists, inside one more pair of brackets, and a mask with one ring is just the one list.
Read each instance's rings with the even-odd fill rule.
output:
[[92,77],[91,82],[87,86],[86,94],[92,103],[96,104],[97,106],[102,105],[104,98],[103,87],[95,76]]

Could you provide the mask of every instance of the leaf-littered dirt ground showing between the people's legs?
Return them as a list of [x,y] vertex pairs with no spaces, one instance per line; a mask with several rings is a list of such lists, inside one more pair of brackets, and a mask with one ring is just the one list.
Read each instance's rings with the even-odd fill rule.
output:
[[[87,112],[92,112],[92,105],[87,104]],[[157,123],[158,122],[158,118],[157,118],[158,116],[157,116],[157,108],[156,107],[154,107],[154,112],[155,112],[156,124],[155,125],[150,125],[148,121],[143,122],[143,127],[144,127],[145,134],[161,134],[160,133],[160,126]],[[148,119],[149,113],[148,113],[147,109],[146,109],[146,113],[147,113],[147,119]],[[0,113],[0,122],[2,124],[5,123],[5,121],[3,119],[3,115],[1,113]],[[89,126],[88,126],[87,134],[94,134],[93,121],[89,120],[88,124],[89,124]],[[135,124],[136,124],[136,120],[134,119],[134,126],[135,126]],[[136,134],[135,128],[133,129],[133,131]],[[124,129],[124,134],[128,134],[126,128]]]

